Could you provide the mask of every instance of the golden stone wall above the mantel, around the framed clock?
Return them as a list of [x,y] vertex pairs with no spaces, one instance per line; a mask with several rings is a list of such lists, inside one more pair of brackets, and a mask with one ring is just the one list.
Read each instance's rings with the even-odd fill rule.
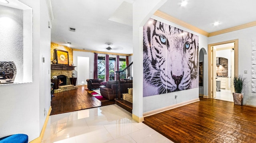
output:
[[67,51],[68,52],[68,63],[69,63],[69,65],[72,65],[72,63],[73,63],[73,49],[72,48],[62,46],[62,45],[59,45],[56,43],[51,43],[51,61],[54,59],[56,60],[55,49]]

